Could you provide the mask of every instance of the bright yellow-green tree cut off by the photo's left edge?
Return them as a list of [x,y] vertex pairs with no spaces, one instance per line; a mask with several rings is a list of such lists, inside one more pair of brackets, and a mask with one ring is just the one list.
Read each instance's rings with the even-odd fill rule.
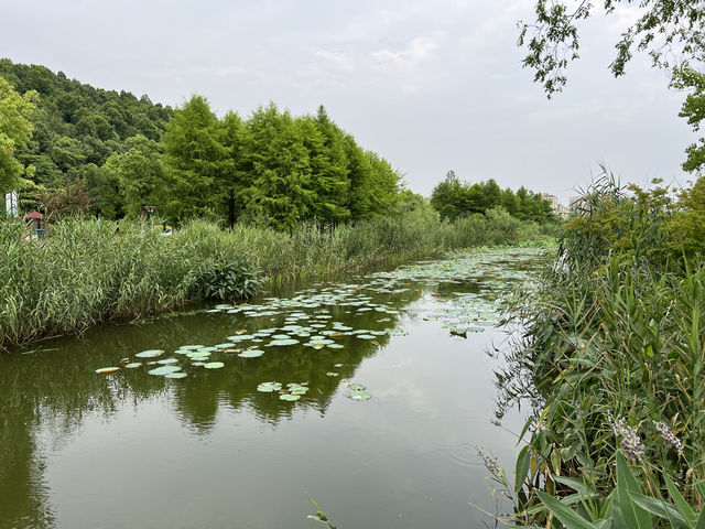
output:
[[17,152],[31,138],[30,116],[37,95],[30,91],[20,96],[10,83],[0,77],[0,193],[14,188],[26,168],[17,159]]

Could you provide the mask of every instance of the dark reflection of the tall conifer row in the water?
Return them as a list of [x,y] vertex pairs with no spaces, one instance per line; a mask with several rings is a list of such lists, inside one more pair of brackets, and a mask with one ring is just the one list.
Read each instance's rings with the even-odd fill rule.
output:
[[[388,302],[394,309],[417,300],[420,289],[404,292],[402,295],[378,295],[375,303]],[[343,322],[355,328],[382,331],[393,327],[399,322],[399,315],[380,312],[366,312],[359,315],[345,314],[347,307],[330,310],[330,321]],[[216,315],[217,317],[217,315]],[[389,317],[388,322],[378,322]],[[265,321],[258,324],[243,325],[242,328],[279,327],[284,317],[276,317],[275,322]],[[305,323],[302,323],[305,325]],[[238,328],[229,327],[229,334]],[[262,347],[264,355],[259,358],[240,358],[232,355],[226,359],[226,367],[212,373],[191,371],[191,376],[175,385],[174,395],[177,397],[177,409],[183,421],[191,427],[208,430],[215,423],[218,401],[227,403],[234,410],[248,407],[262,421],[276,424],[283,417],[291,417],[295,409],[311,408],[325,414],[333,395],[338,389],[341,378],[352,378],[361,361],[389,343],[389,336],[377,336],[375,341],[360,339],[355,336],[336,338],[335,343],[344,346],[341,349],[314,349],[305,347],[307,338],[300,338],[302,344],[289,347]],[[200,343],[200,342],[199,342]],[[260,344],[264,345],[264,344]],[[225,355],[229,356],[229,355]],[[336,368],[335,364],[343,364]],[[338,373],[338,377],[329,377],[327,371]],[[204,380],[205,379],[205,380]],[[308,382],[308,392],[301,400],[292,403],[279,399],[279,393],[262,393],[256,390],[260,382],[279,381]]]

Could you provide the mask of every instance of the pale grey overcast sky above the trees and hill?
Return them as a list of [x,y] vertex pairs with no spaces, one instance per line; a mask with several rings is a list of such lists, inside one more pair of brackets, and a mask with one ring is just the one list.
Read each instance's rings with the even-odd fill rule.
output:
[[200,94],[220,116],[323,104],[424,195],[451,169],[566,204],[598,161],[623,182],[687,179],[684,94],[647,57],[608,71],[633,10],[590,21],[552,100],[516,45],[531,0],[0,0],[0,56],[96,87],[172,106]]

